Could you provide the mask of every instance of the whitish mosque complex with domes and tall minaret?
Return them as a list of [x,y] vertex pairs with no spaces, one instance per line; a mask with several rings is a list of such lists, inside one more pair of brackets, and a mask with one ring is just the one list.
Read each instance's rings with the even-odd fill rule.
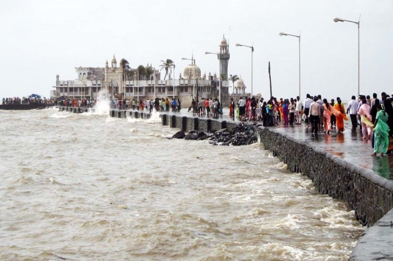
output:
[[[228,81],[228,61],[229,45],[223,36],[217,53],[220,63],[221,81],[221,100],[224,106],[229,103],[229,85]],[[117,66],[117,59],[113,55],[111,67],[108,60],[105,67],[76,67],[76,80],[59,80],[56,75],[56,86],[51,91],[51,97],[64,97],[68,99],[91,98],[96,99],[101,91],[105,90],[107,95],[112,99],[136,99],[145,101],[147,99],[158,98],[179,98],[184,106],[189,106],[192,99],[200,100],[203,98],[219,97],[219,79],[214,73],[212,76],[206,73],[201,75],[200,68],[195,64],[195,59],[180,73],[178,79],[169,77],[167,80],[161,80],[161,73],[157,68],[152,68],[151,74],[146,77],[139,75],[138,69],[123,66],[120,61]],[[151,65],[150,65],[151,66]],[[243,80],[236,82],[234,96],[236,94],[245,94]]]

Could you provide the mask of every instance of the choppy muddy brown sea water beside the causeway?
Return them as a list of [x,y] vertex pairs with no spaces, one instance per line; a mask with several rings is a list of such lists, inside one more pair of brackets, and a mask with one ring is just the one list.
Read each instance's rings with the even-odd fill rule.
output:
[[0,260],[346,260],[347,204],[260,144],[149,120],[0,111]]

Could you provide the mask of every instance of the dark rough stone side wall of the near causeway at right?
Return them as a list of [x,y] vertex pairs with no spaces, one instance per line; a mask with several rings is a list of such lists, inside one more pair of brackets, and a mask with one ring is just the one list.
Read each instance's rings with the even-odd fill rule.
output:
[[363,225],[372,225],[393,207],[393,181],[359,168],[324,149],[258,128],[266,149],[288,165],[291,172],[308,176],[315,189],[348,203]]

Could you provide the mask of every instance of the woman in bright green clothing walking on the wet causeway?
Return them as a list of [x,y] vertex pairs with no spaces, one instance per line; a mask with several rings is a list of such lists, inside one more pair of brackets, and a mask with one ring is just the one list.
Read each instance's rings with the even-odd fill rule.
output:
[[383,156],[384,153],[388,152],[390,128],[387,122],[389,116],[384,108],[383,104],[377,107],[378,112],[374,124],[374,153],[372,153],[371,156],[376,156],[377,153],[381,153],[381,156]]

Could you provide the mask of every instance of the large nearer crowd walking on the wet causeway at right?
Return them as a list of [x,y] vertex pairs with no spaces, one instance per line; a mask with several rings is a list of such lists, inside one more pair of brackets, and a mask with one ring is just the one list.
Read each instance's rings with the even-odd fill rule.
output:
[[381,99],[376,93],[373,93],[372,99],[369,95],[352,96],[346,110],[340,97],[329,102],[321,95],[307,94],[304,101],[299,96],[280,100],[271,97],[268,101],[240,97],[237,105],[231,98],[229,116],[234,117],[235,111],[240,120],[261,120],[264,126],[275,126],[279,122],[294,125],[304,121],[307,127],[311,127],[311,133],[317,134],[321,128],[328,135],[332,130],[342,133],[345,130],[344,120],[348,120],[349,114],[352,131],[359,126],[363,139],[371,140],[373,156],[393,151],[393,98],[385,92],[382,92]]

